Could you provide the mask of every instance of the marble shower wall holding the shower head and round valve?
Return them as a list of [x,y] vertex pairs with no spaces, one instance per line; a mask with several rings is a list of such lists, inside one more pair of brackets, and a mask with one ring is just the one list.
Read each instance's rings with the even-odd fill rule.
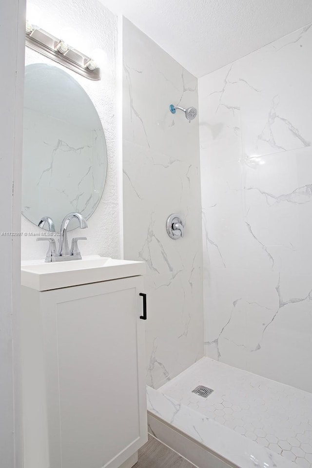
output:
[[[147,383],[158,388],[203,356],[197,79],[123,21],[124,256],[147,264]],[[183,239],[165,228],[185,221]]]

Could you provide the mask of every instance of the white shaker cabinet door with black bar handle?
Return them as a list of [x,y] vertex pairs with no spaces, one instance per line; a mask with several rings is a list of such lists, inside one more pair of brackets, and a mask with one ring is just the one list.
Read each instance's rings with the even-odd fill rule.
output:
[[40,293],[51,468],[117,468],[147,441],[141,288]]

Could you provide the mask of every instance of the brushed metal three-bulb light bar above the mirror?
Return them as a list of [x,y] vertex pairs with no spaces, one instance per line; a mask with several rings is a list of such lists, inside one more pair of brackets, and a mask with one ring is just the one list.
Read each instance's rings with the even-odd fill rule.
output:
[[95,60],[72,48],[38,26],[26,21],[26,45],[40,54],[73,70],[85,78],[101,79],[101,71]]

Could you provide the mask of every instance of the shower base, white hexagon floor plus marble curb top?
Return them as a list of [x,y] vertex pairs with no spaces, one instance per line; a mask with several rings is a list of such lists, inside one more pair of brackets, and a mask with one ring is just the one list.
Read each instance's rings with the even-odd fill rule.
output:
[[[214,392],[205,399],[197,385]],[[152,414],[240,467],[311,468],[309,392],[204,357],[147,394]]]

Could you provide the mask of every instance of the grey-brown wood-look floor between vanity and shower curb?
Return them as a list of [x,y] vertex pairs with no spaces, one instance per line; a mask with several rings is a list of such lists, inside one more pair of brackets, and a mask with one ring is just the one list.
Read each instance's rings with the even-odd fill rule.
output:
[[148,442],[138,451],[133,468],[195,468],[185,458],[149,435]]

